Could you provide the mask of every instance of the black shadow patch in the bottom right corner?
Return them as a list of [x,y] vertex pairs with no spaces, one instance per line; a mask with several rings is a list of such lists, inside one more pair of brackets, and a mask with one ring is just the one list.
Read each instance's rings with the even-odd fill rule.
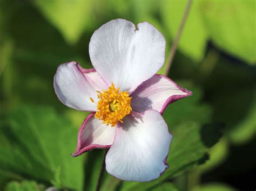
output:
[[241,146],[231,146],[223,164],[202,176],[202,182],[225,182],[238,190],[255,190],[256,139]]

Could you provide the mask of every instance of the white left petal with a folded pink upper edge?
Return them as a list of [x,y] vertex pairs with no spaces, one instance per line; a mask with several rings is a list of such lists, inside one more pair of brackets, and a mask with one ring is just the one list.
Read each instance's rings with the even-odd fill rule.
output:
[[[98,81],[97,81],[98,77]],[[106,88],[105,82],[95,70],[85,70],[77,62],[63,63],[57,69],[53,82],[59,100],[70,108],[97,111],[98,88]],[[92,103],[90,97],[96,103]]]

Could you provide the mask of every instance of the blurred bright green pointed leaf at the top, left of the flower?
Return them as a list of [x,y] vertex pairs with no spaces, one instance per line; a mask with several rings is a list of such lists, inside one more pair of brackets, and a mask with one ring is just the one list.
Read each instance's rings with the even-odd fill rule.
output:
[[84,29],[90,28],[94,23],[93,1],[35,0],[33,2],[70,44],[76,44]]

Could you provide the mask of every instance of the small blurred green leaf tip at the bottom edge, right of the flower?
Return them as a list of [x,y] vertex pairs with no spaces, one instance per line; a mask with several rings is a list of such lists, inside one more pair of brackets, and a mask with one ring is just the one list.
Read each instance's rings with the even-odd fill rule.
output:
[[232,188],[229,185],[226,185],[225,183],[218,183],[218,182],[214,182],[214,183],[206,183],[204,185],[201,185],[198,188],[193,189],[192,191],[235,191],[237,189]]

